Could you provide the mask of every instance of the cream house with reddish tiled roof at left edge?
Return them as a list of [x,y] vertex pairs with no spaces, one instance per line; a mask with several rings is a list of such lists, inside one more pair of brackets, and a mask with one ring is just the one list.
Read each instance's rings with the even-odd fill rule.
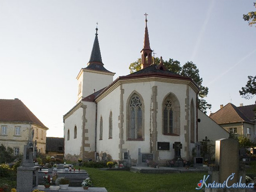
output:
[[48,128],[19,99],[0,99],[0,144],[23,154],[32,135],[39,153],[46,151]]

